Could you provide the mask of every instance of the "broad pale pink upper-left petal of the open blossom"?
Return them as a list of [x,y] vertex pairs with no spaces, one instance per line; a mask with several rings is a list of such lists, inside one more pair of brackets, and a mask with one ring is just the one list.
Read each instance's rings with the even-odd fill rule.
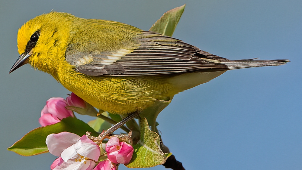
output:
[[48,135],[45,142],[51,154],[61,156],[63,150],[75,144],[80,138],[77,134],[61,132]]

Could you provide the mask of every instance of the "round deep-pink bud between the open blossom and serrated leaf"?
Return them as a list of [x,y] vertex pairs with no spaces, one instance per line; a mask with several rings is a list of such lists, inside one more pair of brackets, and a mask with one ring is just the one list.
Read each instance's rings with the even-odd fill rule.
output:
[[108,159],[113,163],[127,164],[133,155],[133,147],[117,137],[111,137],[106,144]]

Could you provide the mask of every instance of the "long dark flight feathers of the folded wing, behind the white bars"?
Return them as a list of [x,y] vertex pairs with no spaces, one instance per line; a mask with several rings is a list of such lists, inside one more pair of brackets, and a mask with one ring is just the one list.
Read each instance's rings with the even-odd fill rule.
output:
[[[141,45],[137,49],[116,63],[104,67],[107,75],[142,76],[202,69],[227,69],[226,65],[219,62],[219,59],[227,59],[201,51],[195,46],[172,37],[153,32],[143,34],[146,35],[138,39]],[[122,69],[119,72],[115,68]]]

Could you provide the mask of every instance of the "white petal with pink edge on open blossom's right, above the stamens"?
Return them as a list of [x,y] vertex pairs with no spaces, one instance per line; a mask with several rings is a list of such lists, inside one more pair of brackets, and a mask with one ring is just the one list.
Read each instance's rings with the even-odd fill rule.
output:
[[100,147],[90,140],[86,135],[83,135],[75,144],[76,152],[82,156],[95,161],[98,160],[101,154]]

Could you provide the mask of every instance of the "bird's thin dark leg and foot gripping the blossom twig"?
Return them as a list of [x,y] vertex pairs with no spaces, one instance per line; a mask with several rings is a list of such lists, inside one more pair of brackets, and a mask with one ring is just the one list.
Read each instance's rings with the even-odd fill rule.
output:
[[97,141],[96,144],[100,144],[104,139],[108,138],[114,131],[116,131],[118,128],[123,126],[129,120],[131,120],[131,119],[135,118],[136,116],[138,116],[140,113],[141,112],[138,112],[138,111],[135,111],[135,112],[131,113],[125,119],[123,119],[120,122],[118,122],[117,124],[111,126],[111,128],[107,129],[106,131],[103,131],[100,135],[98,135],[98,137],[91,136],[90,132],[86,132],[86,136],[89,139],[93,140],[93,141]]

